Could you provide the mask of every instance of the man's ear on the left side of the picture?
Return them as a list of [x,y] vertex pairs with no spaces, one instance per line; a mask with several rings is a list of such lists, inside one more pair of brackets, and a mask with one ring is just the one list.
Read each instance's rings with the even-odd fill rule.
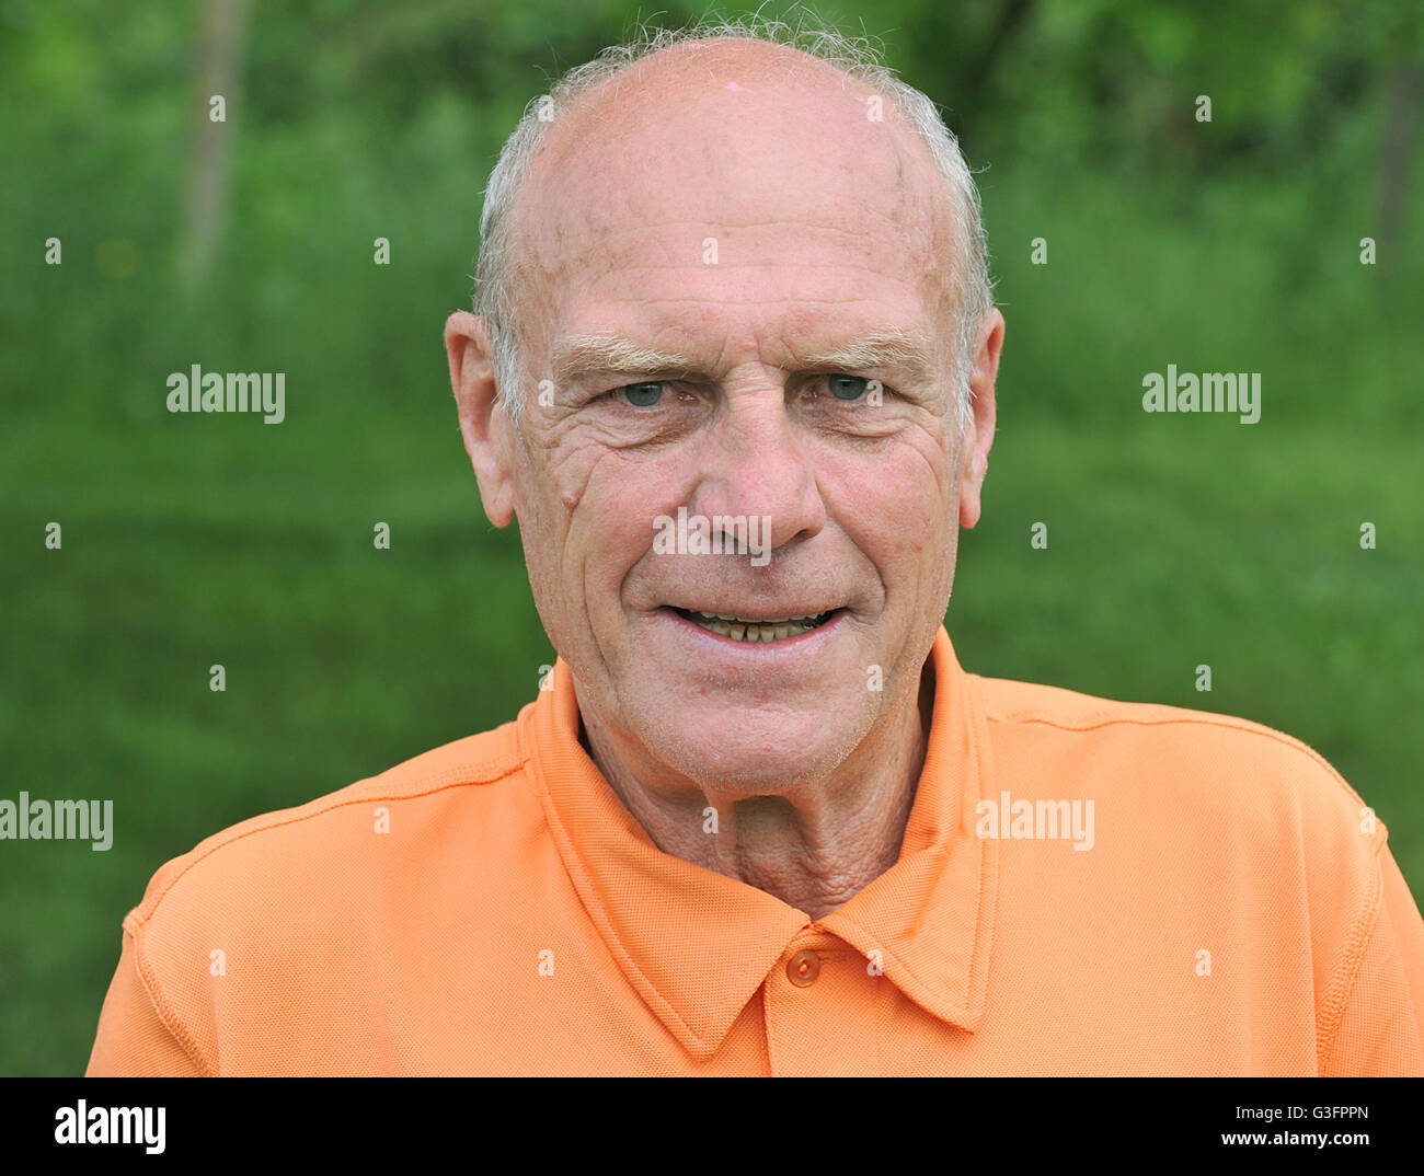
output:
[[460,434],[480,484],[480,501],[490,523],[508,527],[514,517],[510,420],[496,394],[494,353],[484,319],[467,310],[456,310],[446,319],[446,355]]

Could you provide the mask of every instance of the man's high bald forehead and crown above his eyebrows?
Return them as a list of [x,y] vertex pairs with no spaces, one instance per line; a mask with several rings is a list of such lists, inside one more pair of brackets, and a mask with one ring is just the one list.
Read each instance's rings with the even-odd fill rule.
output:
[[666,50],[560,112],[515,209],[527,326],[732,329],[770,308],[787,329],[928,329],[948,202],[871,98],[805,54],[731,43]]

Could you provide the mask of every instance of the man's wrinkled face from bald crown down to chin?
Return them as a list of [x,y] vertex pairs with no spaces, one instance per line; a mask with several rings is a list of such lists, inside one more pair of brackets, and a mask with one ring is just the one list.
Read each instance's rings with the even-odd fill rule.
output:
[[[645,779],[750,792],[832,772],[913,689],[988,448],[957,429],[928,152],[819,67],[773,77],[769,53],[659,64],[551,130],[517,206],[524,421],[497,410],[481,476],[582,705]],[[688,534],[769,530],[669,552],[679,508]],[[783,618],[816,624],[742,624]]]

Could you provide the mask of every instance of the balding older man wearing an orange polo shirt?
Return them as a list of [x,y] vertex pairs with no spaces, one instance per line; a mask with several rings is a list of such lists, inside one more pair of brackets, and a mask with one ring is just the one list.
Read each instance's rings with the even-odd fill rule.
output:
[[960,668],[971,177],[854,46],[739,31],[533,104],[446,325],[547,689],[162,867],[90,1072],[1424,1071],[1424,924],[1324,760]]

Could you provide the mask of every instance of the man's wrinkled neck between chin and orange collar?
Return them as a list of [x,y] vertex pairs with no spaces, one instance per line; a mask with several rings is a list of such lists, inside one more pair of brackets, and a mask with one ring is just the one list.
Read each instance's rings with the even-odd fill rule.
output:
[[[585,747],[624,806],[664,853],[773,894],[822,918],[894,866],[924,766],[934,671],[926,662],[886,719],[829,777],[750,794],[679,780],[648,787],[597,715]],[[712,819],[705,810],[715,810]]]

